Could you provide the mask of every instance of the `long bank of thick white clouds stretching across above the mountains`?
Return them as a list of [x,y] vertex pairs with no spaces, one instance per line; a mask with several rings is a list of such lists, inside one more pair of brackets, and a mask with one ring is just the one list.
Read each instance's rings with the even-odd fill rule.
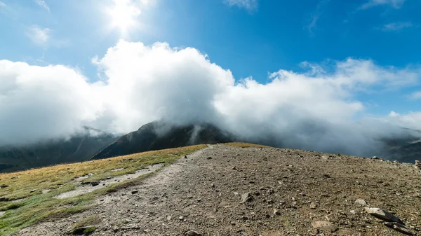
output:
[[409,86],[420,78],[417,68],[348,58],[304,62],[300,73],[280,69],[266,84],[236,81],[195,48],[127,41],[93,64],[102,77],[97,83],[62,65],[0,61],[0,124],[7,124],[0,126],[0,143],[69,137],[83,125],[126,133],[165,119],[209,122],[278,146],[375,155],[377,139],[399,130],[387,118],[357,119],[366,107],[356,93]]

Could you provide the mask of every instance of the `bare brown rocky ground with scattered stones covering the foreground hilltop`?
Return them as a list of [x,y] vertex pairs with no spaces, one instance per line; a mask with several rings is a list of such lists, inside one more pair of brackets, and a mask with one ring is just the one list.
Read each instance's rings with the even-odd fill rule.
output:
[[420,194],[415,165],[218,144],[88,211],[16,235],[67,235],[93,217],[92,235],[402,235],[364,207],[389,211],[419,234]]

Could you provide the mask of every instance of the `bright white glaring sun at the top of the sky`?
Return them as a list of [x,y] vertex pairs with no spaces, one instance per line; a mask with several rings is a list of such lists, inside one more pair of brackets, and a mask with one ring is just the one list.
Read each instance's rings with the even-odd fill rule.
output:
[[130,0],[113,0],[114,6],[108,9],[112,19],[111,27],[126,32],[136,25],[135,18],[140,14],[139,8],[131,4]]

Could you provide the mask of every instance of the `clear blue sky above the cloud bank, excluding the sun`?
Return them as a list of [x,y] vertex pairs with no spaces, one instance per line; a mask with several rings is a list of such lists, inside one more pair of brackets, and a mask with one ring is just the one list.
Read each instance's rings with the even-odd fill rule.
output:
[[[95,68],[90,58],[126,38],[198,48],[213,62],[231,69],[236,78],[253,76],[263,81],[267,71],[298,70],[303,61],[356,57],[396,67],[418,64],[421,2],[372,1],[378,4],[370,5],[368,0],[255,1],[253,8],[247,8],[235,4],[240,0],[232,0],[231,7],[224,0],[156,0],[142,6],[142,13],[135,17],[144,27],[122,36],[119,29],[109,29],[111,19],[105,8],[112,1],[2,0],[0,27],[7,34],[0,36],[0,57],[44,58],[47,63],[79,65],[91,74]],[[45,46],[26,36],[32,25],[49,29]]]

